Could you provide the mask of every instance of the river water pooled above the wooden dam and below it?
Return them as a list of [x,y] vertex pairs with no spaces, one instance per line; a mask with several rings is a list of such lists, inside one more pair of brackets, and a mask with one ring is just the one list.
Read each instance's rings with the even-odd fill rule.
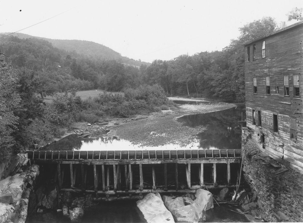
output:
[[[241,112],[244,107],[236,107],[224,111],[182,116],[178,121],[184,125],[195,127],[205,126],[206,131],[197,135],[197,142],[191,149],[239,149],[241,148]],[[76,134],[69,135],[56,143],[45,146],[41,150],[114,150],[134,149],[187,149],[177,145],[165,147],[142,148],[117,137],[102,137],[98,139],[78,138]],[[235,213],[235,206],[215,204],[206,212],[206,222],[248,222],[244,215]],[[28,216],[27,222],[69,222],[62,213],[47,212]],[[135,201],[115,201],[99,203],[85,210],[82,222],[146,222]]]

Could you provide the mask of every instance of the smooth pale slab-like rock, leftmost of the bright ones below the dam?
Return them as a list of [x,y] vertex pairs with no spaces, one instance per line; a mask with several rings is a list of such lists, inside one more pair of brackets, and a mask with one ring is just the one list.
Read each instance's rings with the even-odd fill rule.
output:
[[147,222],[175,222],[161,199],[159,193],[149,193],[142,200],[137,201],[137,206],[143,213]]

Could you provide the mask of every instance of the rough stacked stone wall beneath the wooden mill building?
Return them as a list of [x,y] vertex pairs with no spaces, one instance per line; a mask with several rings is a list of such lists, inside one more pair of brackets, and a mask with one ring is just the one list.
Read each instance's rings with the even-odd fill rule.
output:
[[303,222],[303,175],[277,169],[262,159],[243,160],[246,182],[258,193],[261,217],[268,222]]

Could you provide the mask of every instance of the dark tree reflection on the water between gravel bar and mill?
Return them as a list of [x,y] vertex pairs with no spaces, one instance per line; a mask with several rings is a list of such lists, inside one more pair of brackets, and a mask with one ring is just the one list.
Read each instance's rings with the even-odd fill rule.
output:
[[190,127],[206,126],[198,134],[201,149],[241,149],[241,113],[244,106],[223,111],[187,115],[178,119]]

